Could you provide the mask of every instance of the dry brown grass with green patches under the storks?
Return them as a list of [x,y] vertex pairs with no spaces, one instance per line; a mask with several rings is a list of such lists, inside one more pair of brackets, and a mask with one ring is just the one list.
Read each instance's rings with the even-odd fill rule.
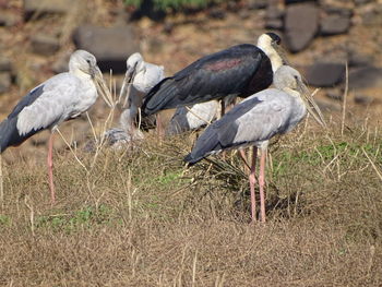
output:
[[381,285],[382,137],[338,127],[301,124],[272,146],[266,225],[250,224],[235,156],[184,169],[188,136],[102,150],[88,171],[56,154],[53,207],[45,160],[3,164],[0,284]]

